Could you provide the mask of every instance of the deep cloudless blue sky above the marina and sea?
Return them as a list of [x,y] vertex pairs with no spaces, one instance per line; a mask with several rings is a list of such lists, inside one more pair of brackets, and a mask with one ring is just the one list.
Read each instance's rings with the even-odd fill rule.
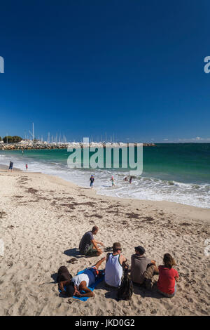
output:
[[209,0],[1,1],[0,136],[210,142],[209,31]]

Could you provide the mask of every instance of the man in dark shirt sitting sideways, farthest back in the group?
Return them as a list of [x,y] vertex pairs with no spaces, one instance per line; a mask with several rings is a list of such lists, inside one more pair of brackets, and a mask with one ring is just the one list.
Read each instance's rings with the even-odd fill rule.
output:
[[104,244],[93,238],[93,235],[96,235],[98,231],[99,227],[94,226],[90,232],[85,232],[79,245],[81,254],[85,254],[85,256],[99,256],[102,254],[102,250],[99,249],[97,244],[102,246],[104,246]]

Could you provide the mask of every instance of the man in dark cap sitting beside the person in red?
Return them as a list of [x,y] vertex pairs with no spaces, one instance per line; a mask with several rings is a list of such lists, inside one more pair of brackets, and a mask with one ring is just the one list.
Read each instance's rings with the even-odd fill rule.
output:
[[147,289],[151,289],[151,279],[153,275],[158,274],[158,267],[155,260],[146,258],[145,249],[142,246],[135,247],[136,254],[132,254],[131,258],[131,278],[132,282],[137,285],[145,285]]

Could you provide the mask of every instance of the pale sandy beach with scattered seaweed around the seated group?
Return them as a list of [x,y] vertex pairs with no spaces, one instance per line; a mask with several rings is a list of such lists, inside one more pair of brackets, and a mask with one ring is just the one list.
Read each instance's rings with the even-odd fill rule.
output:
[[[0,315],[209,315],[204,242],[210,238],[210,209],[104,197],[57,177],[8,173],[2,166],[0,196]],[[106,246],[121,243],[129,264],[137,245],[158,265],[171,253],[180,276],[174,298],[134,286],[131,300],[118,302],[104,282],[86,302],[60,297],[54,279],[61,265],[74,276],[100,258],[78,251],[93,225]],[[78,261],[67,263],[73,257]]]

